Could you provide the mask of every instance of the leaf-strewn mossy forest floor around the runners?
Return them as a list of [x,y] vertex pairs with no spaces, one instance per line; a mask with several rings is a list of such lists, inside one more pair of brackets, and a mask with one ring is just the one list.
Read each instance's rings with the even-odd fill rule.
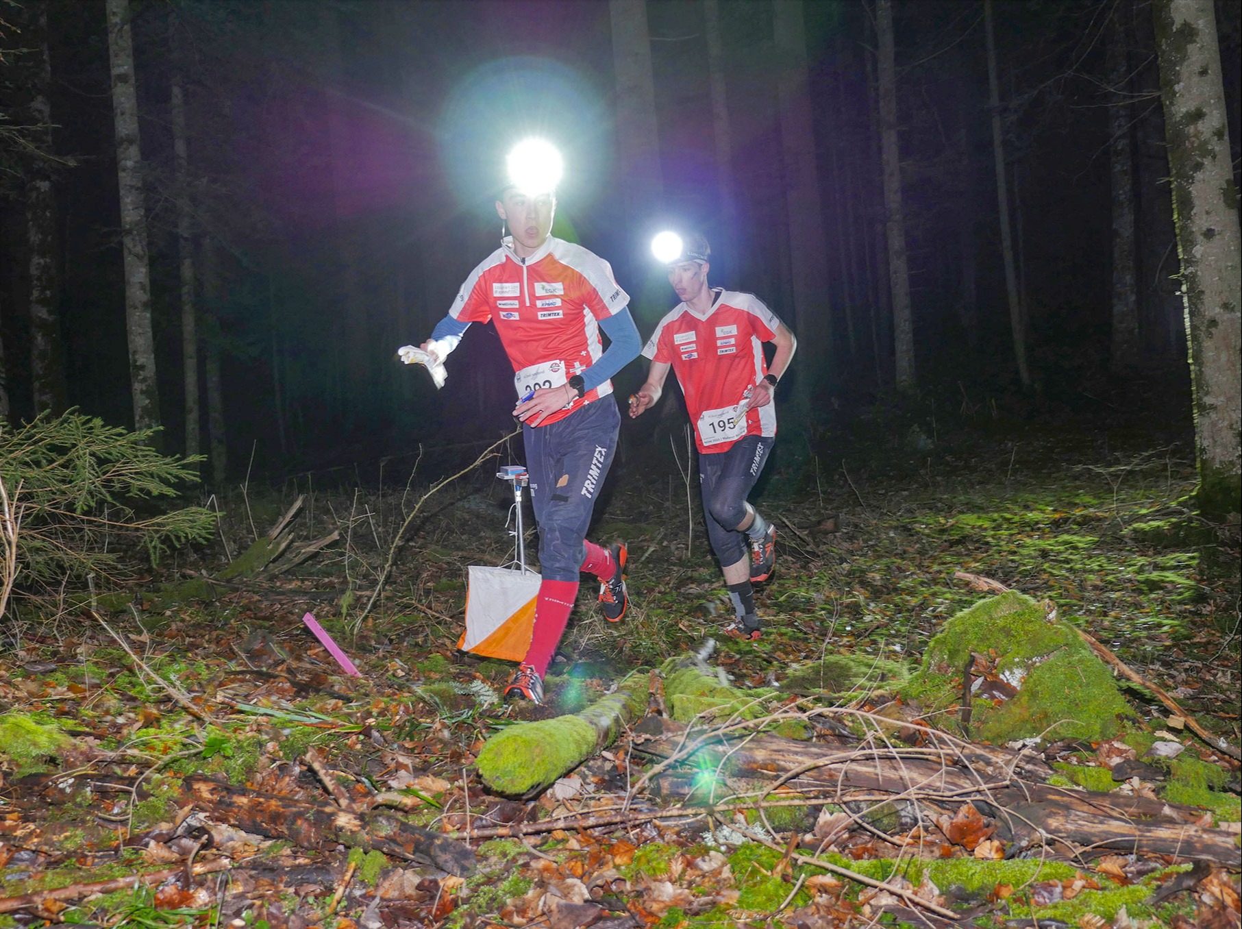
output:
[[[1185,445],[1141,430],[1007,433],[986,412],[951,436],[934,421],[878,420],[818,445],[817,458],[785,450],[756,496],[777,528],[779,560],[758,594],[764,636],[746,643],[719,633],[732,617],[697,487],[687,504],[677,466],[657,443],[619,458],[592,538],[628,543],[631,609],[621,625],[605,622],[594,585],[582,584],[543,708],[503,704],[512,666],[456,650],[465,565],[502,564],[512,551],[508,484],[492,477],[496,461],[427,501],[365,617],[401,514],[422,493],[416,487],[308,493],[299,535],[339,528],[342,542],[287,574],[219,585],[215,600],[169,604],[147,592],[102,620],[71,610],[19,623],[16,647],[0,656],[0,927],[953,924],[797,863],[795,847],[955,909],[961,925],[1237,927],[1237,863],[1196,867],[1187,878],[1190,864],[1172,856],[986,861],[977,838],[972,846],[959,833],[912,852],[900,837],[858,827],[823,847],[825,820],[814,809],[810,820],[769,833],[743,813],[643,818],[672,802],[643,790],[631,797],[630,821],[520,841],[478,836],[615,811],[643,770],[623,735],[537,797],[498,797],[472,766],[489,734],[579,709],[627,671],[691,653],[707,637],[718,641],[712,661],[743,687],[779,687],[792,666],[825,655],[914,664],[938,628],[982,596],[956,571],[1051,601],[1238,744],[1238,581],[1227,571],[1205,579],[1199,548],[1223,544],[1217,556],[1228,563],[1236,532],[1218,535],[1191,518]],[[308,491],[252,488],[233,499],[222,523],[231,554],[298,489]],[[160,578],[215,573],[221,555],[168,565]],[[360,677],[344,674],[308,633],[308,611]],[[1148,741],[1180,724],[1141,688],[1126,698],[1129,732]],[[889,698],[851,699],[866,712]],[[1212,810],[1203,822],[1236,830],[1237,764],[1186,730],[1174,735],[1187,756],[1220,769],[1218,790],[1203,785],[1200,795]],[[1104,774],[1079,782],[1156,796],[1160,784],[1114,784],[1103,766],[1125,738],[1071,746],[1079,766]],[[318,821],[287,825],[293,838],[241,828],[196,809],[183,781],[194,775],[277,795],[288,810],[310,809],[298,801],[366,807],[399,792],[406,822],[467,840],[477,866],[450,874],[350,850]],[[755,830],[775,847],[748,841]],[[154,877],[139,887],[116,882],[138,874]],[[67,889],[14,903],[53,888]]]

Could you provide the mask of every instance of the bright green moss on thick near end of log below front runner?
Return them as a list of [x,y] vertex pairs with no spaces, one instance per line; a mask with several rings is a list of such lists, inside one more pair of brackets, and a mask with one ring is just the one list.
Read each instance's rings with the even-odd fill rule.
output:
[[591,724],[573,715],[519,723],[483,743],[476,764],[489,787],[524,796],[580,765],[595,741]]

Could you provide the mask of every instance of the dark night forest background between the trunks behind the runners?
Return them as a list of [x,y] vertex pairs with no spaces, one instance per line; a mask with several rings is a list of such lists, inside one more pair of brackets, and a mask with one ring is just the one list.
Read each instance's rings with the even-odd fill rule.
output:
[[[893,9],[915,386],[953,402],[1021,397],[1010,409],[1027,412],[1072,410],[1100,390],[1139,384],[1189,401],[1149,4],[994,7],[1033,381],[1026,391],[1000,253],[982,5],[898,0]],[[1240,6],[1216,9],[1236,170]],[[47,21],[50,144],[40,152],[6,135],[0,165],[0,338],[11,412],[35,414],[22,196],[41,171],[56,204],[63,374],[53,406],[132,425],[104,2],[0,4],[11,26],[0,127],[10,130],[32,123],[39,10]],[[795,369],[811,421],[830,424],[884,396],[894,384],[894,339],[874,10],[845,0],[809,0],[802,10],[826,237],[827,289],[814,312],[827,317],[815,320],[795,302],[777,93],[789,62],[770,2],[719,2],[735,224],[717,170],[700,2],[646,4],[661,186],[641,196],[617,156],[607,2],[133,2],[166,447],[183,450],[186,440],[179,197],[194,222],[200,426],[206,436],[214,358],[231,473],[253,467],[278,477],[510,428],[508,366],[489,327],[467,334],[438,394],[396,363],[395,349],[426,338],[496,246],[492,194],[504,152],[530,133],[565,152],[555,233],[611,261],[645,338],[673,302],[650,258],[651,233],[666,222],[696,227],[713,242],[713,283],[758,293],[804,335]],[[1122,45],[1120,86],[1109,42]],[[174,170],[174,72],[186,92],[185,183]],[[1128,114],[1136,206],[1141,344],[1126,365],[1110,356],[1117,106]],[[817,333],[814,342],[807,332]],[[632,365],[619,392],[640,378]],[[1189,402],[1177,402],[1189,432]]]

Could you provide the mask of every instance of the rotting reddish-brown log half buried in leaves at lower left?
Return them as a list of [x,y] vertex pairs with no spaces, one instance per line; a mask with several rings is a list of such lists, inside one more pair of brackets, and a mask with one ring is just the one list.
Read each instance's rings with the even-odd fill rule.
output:
[[450,874],[467,876],[474,871],[474,852],[469,846],[411,826],[391,813],[348,812],[329,804],[261,794],[200,776],[186,777],[183,786],[195,806],[217,822],[283,838],[299,848],[332,851],[344,845],[425,862]]

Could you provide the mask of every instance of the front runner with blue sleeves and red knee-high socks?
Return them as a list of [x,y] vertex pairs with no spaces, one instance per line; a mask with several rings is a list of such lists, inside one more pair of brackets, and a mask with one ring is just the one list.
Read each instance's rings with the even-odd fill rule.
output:
[[641,344],[630,298],[609,263],[549,235],[555,209],[554,193],[514,185],[502,191],[496,210],[512,235],[471,272],[421,345],[442,361],[471,323],[493,322],[513,365],[513,415],[523,424],[543,582],[530,647],[504,693],[534,703],[543,702],[543,678],[579,574],[599,578],[609,621],[620,620],[628,604],[625,544],[602,548],[585,535],[621,424],[610,379],[637,358]]

